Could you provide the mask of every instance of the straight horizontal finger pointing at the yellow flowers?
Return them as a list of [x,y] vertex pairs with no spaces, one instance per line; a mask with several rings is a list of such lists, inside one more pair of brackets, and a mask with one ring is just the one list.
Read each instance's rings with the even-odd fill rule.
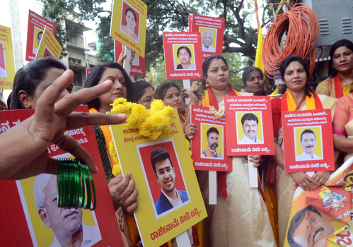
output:
[[127,119],[125,114],[102,114],[87,112],[72,112],[67,117],[66,129],[81,128],[88,125],[112,125],[124,123]]

